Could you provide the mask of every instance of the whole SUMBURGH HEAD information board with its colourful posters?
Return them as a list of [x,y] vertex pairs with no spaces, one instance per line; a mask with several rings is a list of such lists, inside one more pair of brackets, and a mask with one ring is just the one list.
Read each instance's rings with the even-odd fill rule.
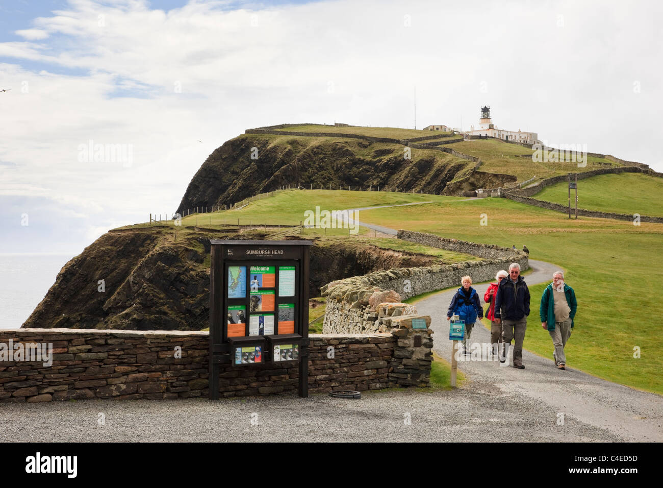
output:
[[[210,400],[221,365],[299,365],[308,396],[310,240],[210,240]],[[263,366],[264,365],[264,366]]]

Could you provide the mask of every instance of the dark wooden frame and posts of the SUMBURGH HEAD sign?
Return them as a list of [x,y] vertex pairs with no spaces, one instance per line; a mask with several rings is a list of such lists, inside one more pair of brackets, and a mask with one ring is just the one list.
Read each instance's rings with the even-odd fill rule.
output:
[[[308,285],[310,269],[310,240],[210,240],[211,262],[210,262],[210,400],[219,399],[219,372],[221,365],[238,368],[251,368],[258,365],[271,363],[277,366],[280,363],[292,365],[299,364],[299,396],[308,396]],[[229,289],[229,268],[231,266],[244,267],[244,284],[241,282],[233,287],[239,286],[239,292],[233,293]],[[274,282],[269,278],[269,285],[258,285],[257,280],[251,280],[251,266],[266,266],[274,268]],[[294,290],[292,295],[280,295],[281,285],[280,272],[292,272],[294,267]],[[288,269],[282,269],[288,268]],[[235,272],[235,270],[233,270]],[[236,272],[240,273],[241,268]],[[260,272],[255,272],[259,274]],[[251,291],[251,282],[254,289]],[[288,288],[290,288],[288,282]],[[243,292],[241,291],[243,289]],[[273,293],[270,291],[273,290]],[[289,291],[288,291],[289,293]],[[242,296],[239,296],[242,295]],[[271,310],[263,310],[263,295],[269,297],[266,303]],[[254,303],[251,297],[259,297]],[[260,305],[257,305],[257,302]],[[279,333],[278,305],[294,304],[294,327],[284,322],[282,331]],[[229,307],[233,307],[229,309]],[[253,307],[253,309],[252,309]],[[235,327],[229,337],[229,315],[231,311],[241,311],[245,319],[245,335],[239,335],[241,327]],[[285,307],[292,308],[292,307]],[[251,317],[263,315],[263,329],[258,330],[256,321]],[[272,316],[272,323],[267,324],[267,317]],[[257,319],[259,320],[259,318]],[[289,321],[288,321],[289,322]],[[239,324],[241,325],[241,323]],[[292,329],[292,330],[291,330]],[[271,332],[271,333],[269,333]],[[263,335],[264,333],[264,335]],[[298,359],[289,361],[273,361],[272,351],[274,344],[290,344],[298,347]],[[235,361],[235,353],[238,347],[261,346],[261,362],[250,363]],[[257,353],[253,356],[255,359]]]

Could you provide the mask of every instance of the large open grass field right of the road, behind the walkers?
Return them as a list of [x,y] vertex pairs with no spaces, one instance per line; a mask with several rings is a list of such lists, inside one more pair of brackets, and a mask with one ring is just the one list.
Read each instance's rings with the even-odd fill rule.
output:
[[[487,216],[487,226],[481,226],[481,214]],[[656,317],[663,224],[568,220],[564,214],[506,199],[404,207],[398,215],[368,210],[361,220],[505,247],[526,244],[532,259],[559,264],[575,289],[579,307],[567,346],[568,365],[663,393],[663,335]],[[531,289],[525,348],[549,357],[552,341],[538,317],[543,288]],[[634,347],[640,347],[640,359],[633,358]]]

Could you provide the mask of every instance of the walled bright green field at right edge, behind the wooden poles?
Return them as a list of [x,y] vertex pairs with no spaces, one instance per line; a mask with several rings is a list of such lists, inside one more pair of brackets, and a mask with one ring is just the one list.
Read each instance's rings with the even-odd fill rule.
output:
[[[534,195],[546,202],[568,204],[568,183],[551,185]],[[663,178],[640,173],[599,175],[578,181],[578,208],[601,212],[663,216]],[[575,206],[575,191],[571,191]]]

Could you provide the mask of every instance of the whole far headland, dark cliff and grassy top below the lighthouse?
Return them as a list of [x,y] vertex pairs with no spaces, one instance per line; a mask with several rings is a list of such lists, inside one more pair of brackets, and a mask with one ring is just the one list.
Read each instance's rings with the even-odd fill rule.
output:
[[[582,168],[576,163],[535,163],[532,149],[521,145],[499,139],[444,144],[460,136],[437,131],[319,124],[255,130],[263,132],[239,135],[210,154],[192,178],[176,212],[231,205],[288,186],[330,190],[389,187],[406,193],[457,196],[478,188],[505,187],[534,176],[545,178],[620,166],[597,157],[589,157]],[[430,139],[416,141],[421,137]],[[410,143],[429,147],[406,147]],[[444,152],[451,149],[457,153]],[[472,157],[481,159],[478,168]]]

